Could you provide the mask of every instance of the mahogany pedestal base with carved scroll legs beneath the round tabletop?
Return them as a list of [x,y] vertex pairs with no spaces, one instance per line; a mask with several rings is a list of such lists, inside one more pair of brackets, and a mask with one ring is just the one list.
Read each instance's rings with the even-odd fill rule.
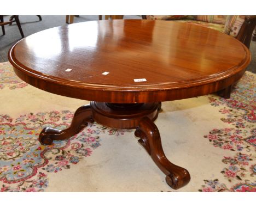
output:
[[153,123],[158,117],[160,107],[161,103],[118,104],[91,101],[90,105],[77,109],[67,129],[45,127],[39,135],[39,142],[50,145],[54,140],[68,139],[94,121],[119,129],[136,129],[138,142],[164,172],[167,184],[178,189],[187,185],[190,174],[188,170],[171,163],[164,154],[158,127]]

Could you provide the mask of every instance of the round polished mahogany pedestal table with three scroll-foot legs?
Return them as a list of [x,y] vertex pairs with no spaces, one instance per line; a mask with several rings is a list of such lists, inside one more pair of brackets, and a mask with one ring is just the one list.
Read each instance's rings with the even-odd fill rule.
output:
[[16,75],[28,84],[91,100],[77,109],[68,129],[43,129],[40,143],[67,139],[94,121],[136,129],[138,142],[174,189],[186,185],[190,175],[168,161],[162,150],[153,122],[161,102],[213,92],[228,98],[231,85],[243,76],[250,60],[248,48],[229,35],[188,23],[154,20],[55,27],[22,39],[9,51]]

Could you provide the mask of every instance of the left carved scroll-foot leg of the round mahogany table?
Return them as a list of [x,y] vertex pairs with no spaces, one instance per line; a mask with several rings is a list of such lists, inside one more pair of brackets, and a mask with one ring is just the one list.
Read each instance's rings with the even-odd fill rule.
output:
[[88,123],[93,123],[90,105],[82,106],[75,111],[71,125],[65,130],[56,130],[46,127],[39,135],[39,142],[43,145],[50,145],[53,140],[62,140],[79,133]]

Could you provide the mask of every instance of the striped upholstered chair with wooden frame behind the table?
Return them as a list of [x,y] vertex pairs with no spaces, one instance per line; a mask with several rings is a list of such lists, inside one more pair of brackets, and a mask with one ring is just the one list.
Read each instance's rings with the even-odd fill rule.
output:
[[251,43],[256,16],[246,15],[143,15],[148,20],[175,20],[216,29],[234,36],[248,48]]

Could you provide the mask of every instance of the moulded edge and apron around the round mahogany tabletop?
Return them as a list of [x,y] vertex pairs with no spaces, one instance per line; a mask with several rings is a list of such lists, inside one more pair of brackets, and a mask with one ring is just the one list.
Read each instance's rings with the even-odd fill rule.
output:
[[[104,21],[109,21],[109,20],[104,20]],[[123,21],[123,20],[110,20],[110,21]],[[139,20],[139,21],[155,21],[155,20]],[[179,24],[185,24],[182,22],[178,22]],[[75,23],[79,24],[79,23]],[[59,26],[63,27],[63,26]],[[67,26],[68,27],[68,26]],[[196,26],[196,27],[201,27],[201,26]],[[49,28],[51,29],[51,28]],[[207,28],[208,29],[208,28]],[[43,30],[42,30],[43,31]],[[40,33],[40,32],[38,32]],[[33,34],[32,34],[33,35]],[[223,34],[226,35],[226,34]],[[228,35],[229,36],[229,35]],[[229,36],[229,38],[233,38]],[[21,39],[20,41],[22,41]],[[234,66],[226,71],[219,72],[217,74],[214,74],[212,76],[205,76],[196,78],[196,79],[190,79],[189,81],[179,81],[179,82],[170,82],[170,83],[158,83],[156,84],[145,84],[145,83],[139,83],[136,85],[129,85],[129,84],[124,84],[124,85],[108,85],[108,84],[91,84],[91,83],[83,83],[83,82],[78,82],[78,81],[71,81],[68,79],[63,79],[63,78],[58,78],[58,77],[50,77],[48,75],[43,75],[43,74],[37,74],[35,70],[27,68],[26,66],[22,65],[13,55],[14,50],[16,45],[19,44],[20,41],[16,42],[13,46],[11,46],[9,52],[8,52],[8,59],[11,65],[13,65],[14,71],[16,75],[18,75],[23,81],[27,82],[28,84],[33,85],[34,87],[37,87],[39,89],[40,85],[48,83],[51,85],[51,87],[62,87],[63,89],[68,89],[71,88],[71,91],[73,90],[80,90],[83,91],[80,95],[73,95],[73,94],[68,94],[68,93],[60,93],[59,90],[52,90],[52,89],[43,89],[45,91],[49,91],[50,93],[55,93],[59,95],[64,95],[68,97],[75,97],[78,99],[83,99],[83,100],[94,100],[94,101],[104,101],[104,102],[117,102],[117,103],[134,103],[134,102],[155,102],[155,101],[168,101],[168,100],[176,100],[175,97],[173,99],[170,98],[170,96],[164,98],[159,98],[157,99],[155,96],[155,93],[165,91],[166,93],[168,91],[172,90],[182,90],[186,88],[200,88],[200,86],[208,85],[211,83],[216,83],[219,81],[223,81],[226,84],[222,85],[220,88],[214,87],[214,90],[208,90],[205,93],[197,93],[196,95],[187,95],[183,96],[184,98],[188,97],[193,97],[193,96],[199,96],[203,94],[208,94],[208,93],[213,93],[214,91],[218,91],[221,89],[224,89],[225,87],[228,87],[231,83],[231,81],[225,81],[228,79],[232,79],[232,82],[238,81],[242,77],[242,75],[245,73],[245,68],[246,66],[251,62],[251,52],[248,50],[248,48],[242,44],[242,42],[238,41],[237,39],[234,38],[235,41],[237,41],[242,47],[243,50],[245,50],[245,56],[243,60],[241,61],[240,65]],[[235,77],[235,78],[234,78]],[[36,79],[36,81],[34,81]],[[90,97],[86,96],[86,92],[90,91]],[[106,94],[105,99],[99,99],[92,94],[94,91],[97,91],[97,93],[102,93]],[[124,100],[108,100],[106,99],[107,94],[113,94],[113,93],[118,93],[117,95],[121,94],[129,94],[127,97],[138,97],[139,94],[144,94],[142,96],[142,99],[130,99],[127,101]],[[150,99],[145,98],[145,96],[150,96],[150,93],[154,93],[154,98]],[[182,97],[177,97],[177,99],[183,99]]]

